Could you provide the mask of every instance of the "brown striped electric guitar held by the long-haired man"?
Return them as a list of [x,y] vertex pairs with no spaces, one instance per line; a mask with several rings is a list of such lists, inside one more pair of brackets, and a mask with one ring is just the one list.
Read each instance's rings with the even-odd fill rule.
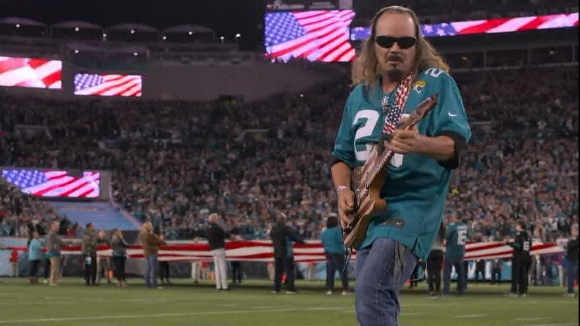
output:
[[[403,130],[413,128],[437,103],[437,94],[430,96],[419,104],[405,124]],[[353,170],[350,186],[354,191],[354,219],[343,229],[344,243],[349,248],[358,249],[367,236],[367,229],[378,212],[387,208],[387,202],[380,197],[385,186],[387,164],[393,157],[393,151],[382,149],[376,144],[367,162]]]

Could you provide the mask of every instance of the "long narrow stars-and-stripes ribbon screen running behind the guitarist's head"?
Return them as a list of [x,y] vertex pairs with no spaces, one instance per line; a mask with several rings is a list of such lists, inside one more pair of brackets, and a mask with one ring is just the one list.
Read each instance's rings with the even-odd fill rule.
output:
[[[441,37],[453,35],[502,33],[529,30],[550,30],[578,26],[578,13],[530,16],[517,18],[501,18],[473,21],[456,21],[455,23],[422,25],[425,37]],[[350,39],[358,41],[367,39],[370,35],[368,27],[357,27],[350,31]]]

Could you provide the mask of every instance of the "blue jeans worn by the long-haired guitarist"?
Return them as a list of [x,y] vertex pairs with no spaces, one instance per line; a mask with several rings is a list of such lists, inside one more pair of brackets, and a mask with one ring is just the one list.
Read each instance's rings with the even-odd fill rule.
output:
[[417,263],[411,250],[401,247],[396,240],[377,238],[357,252],[354,306],[361,326],[397,325],[398,295]]

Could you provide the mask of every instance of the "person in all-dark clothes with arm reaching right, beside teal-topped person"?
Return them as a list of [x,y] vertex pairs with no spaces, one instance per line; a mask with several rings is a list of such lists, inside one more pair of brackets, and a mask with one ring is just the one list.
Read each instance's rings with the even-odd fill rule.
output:
[[287,294],[296,293],[294,288],[294,255],[292,253],[292,242],[305,243],[300,239],[291,227],[286,225],[287,216],[278,213],[276,224],[270,231],[270,237],[274,245],[274,293],[280,292],[282,285],[282,274],[286,273]]

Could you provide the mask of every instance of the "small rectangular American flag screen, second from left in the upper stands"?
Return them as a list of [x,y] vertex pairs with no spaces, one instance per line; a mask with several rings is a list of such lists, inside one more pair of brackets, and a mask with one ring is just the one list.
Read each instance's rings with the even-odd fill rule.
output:
[[141,96],[141,75],[76,74],[75,95]]

